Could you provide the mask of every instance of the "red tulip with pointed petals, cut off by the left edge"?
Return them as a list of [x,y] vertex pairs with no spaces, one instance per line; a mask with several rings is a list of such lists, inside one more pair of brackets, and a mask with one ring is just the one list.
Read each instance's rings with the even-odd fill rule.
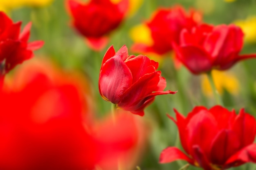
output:
[[17,64],[30,59],[33,51],[43,46],[43,41],[29,42],[31,23],[20,33],[21,22],[12,20],[0,11],[0,74],[8,73]]

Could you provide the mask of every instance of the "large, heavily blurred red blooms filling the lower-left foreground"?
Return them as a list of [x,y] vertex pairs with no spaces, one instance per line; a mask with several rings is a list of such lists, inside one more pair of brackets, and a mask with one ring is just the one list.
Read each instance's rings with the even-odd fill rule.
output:
[[79,86],[49,70],[17,70],[22,78],[0,92],[0,169],[115,170],[119,159],[132,157],[142,124],[129,114],[116,124],[90,119]]

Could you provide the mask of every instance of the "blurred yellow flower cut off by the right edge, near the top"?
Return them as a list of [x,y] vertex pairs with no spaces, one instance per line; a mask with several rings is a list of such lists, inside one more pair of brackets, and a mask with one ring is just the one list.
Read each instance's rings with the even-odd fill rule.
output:
[[256,42],[256,16],[248,17],[246,20],[236,20],[234,24],[240,26],[245,33],[245,42]]

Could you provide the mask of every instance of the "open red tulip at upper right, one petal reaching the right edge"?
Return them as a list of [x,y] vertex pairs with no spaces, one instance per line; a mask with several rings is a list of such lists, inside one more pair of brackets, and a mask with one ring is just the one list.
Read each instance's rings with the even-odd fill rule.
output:
[[174,44],[174,49],[177,58],[193,74],[226,70],[240,60],[256,57],[256,54],[239,55],[243,36],[243,31],[233,24],[202,24],[192,31],[183,29],[180,44]]

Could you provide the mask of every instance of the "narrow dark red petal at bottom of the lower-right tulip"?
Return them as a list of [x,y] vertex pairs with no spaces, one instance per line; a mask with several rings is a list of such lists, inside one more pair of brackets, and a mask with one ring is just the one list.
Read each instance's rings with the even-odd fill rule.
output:
[[193,158],[196,160],[198,165],[202,167],[204,170],[212,170],[209,160],[207,159],[206,154],[203,152],[200,146],[195,145],[193,146],[192,149],[194,153]]

